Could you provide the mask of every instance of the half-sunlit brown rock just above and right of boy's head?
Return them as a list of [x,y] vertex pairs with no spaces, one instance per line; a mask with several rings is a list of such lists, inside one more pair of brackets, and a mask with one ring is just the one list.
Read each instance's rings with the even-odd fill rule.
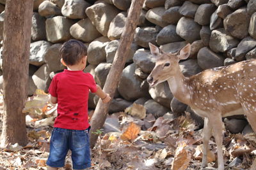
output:
[[101,36],[96,27],[92,24],[89,18],[79,20],[76,24],[70,27],[70,34],[76,39],[80,39],[84,42],[92,42],[93,39]]

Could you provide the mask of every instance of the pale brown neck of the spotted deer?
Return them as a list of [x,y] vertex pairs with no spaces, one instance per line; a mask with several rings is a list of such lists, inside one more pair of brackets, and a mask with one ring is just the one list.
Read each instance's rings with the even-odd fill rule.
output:
[[175,98],[180,102],[189,104],[190,102],[190,92],[188,85],[186,85],[186,77],[181,73],[180,68],[177,68],[177,74],[169,78],[168,84],[170,90]]

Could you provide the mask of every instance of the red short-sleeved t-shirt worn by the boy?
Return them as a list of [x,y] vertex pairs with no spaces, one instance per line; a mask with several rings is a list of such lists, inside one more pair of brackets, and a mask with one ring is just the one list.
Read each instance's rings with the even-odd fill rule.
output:
[[49,93],[58,99],[58,116],[54,127],[85,130],[88,122],[88,96],[97,91],[92,74],[65,69],[52,79]]

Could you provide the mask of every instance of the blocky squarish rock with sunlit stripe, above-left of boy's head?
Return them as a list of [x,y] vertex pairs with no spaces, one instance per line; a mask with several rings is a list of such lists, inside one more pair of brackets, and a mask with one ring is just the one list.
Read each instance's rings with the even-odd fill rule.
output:
[[45,22],[46,37],[51,43],[68,41],[72,36],[70,27],[75,24],[75,20],[70,20],[66,17],[48,18]]

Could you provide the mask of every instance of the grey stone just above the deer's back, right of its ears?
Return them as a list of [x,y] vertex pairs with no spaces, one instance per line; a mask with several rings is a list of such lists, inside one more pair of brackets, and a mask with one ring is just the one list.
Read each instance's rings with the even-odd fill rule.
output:
[[197,62],[202,69],[210,69],[213,67],[223,66],[224,59],[221,55],[218,55],[212,52],[209,48],[204,47],[198,52]]

